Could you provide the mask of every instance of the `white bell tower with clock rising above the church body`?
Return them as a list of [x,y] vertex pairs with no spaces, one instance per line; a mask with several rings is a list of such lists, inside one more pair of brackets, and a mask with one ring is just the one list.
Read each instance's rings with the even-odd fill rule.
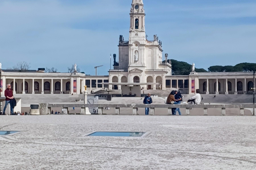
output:
[[130,40],[145,40],[145,10],[143,0],[132,0],[130,11]]

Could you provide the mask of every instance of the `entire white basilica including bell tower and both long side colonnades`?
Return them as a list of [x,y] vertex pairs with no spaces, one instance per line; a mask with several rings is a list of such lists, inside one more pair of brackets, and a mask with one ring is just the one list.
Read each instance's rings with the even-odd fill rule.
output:
[[[163,53],[157,35],[146,36],[146,13],[143,0],[132,0],[129,41],[119,37],[119,54],[109,75],[88,76],[84,73],[46,73],[43,70],[1,70],[1,94],[11,84],[14,94],[82,94],[140,86],[141,89],[180,90],[183,94],[248,94],[255,87],[252,72],[195,72],[193,63],[189,75],[172,75],[171,58]],[[169,56],[170,57],[170,56]],[[4,64],[4,63],[3,63]],[[137,84],[136,84],[137,83]]]

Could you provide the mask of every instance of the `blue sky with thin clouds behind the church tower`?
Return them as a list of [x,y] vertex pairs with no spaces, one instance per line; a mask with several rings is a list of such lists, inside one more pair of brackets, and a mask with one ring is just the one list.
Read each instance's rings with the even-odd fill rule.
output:
[[[129,36],[132,0],[1,0],[0,61],[30,69],[77,63],[108,75],[119,35]],[[211,65],[256,63],[255,0],[144,0],[146,34],[157,34],[169,59]],[[113,62],[113,57],[112,57]],[[113,64],[113,63],[112,63]],[[113,66],[112,66],[113,68]]]

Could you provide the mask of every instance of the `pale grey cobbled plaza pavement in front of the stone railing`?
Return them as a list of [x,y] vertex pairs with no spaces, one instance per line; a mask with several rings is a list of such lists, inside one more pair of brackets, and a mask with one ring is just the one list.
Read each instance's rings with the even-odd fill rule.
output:
[[[253,116],[0,116],[0,170],[255,170]],[[145,131],[137,137],[85,136]]]

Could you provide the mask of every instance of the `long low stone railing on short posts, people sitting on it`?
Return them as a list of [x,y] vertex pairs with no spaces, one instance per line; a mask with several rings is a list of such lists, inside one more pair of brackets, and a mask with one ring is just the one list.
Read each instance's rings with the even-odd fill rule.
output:
[[190,108],[201,108],[203,115],[208,115],[209,108],[216,108],[222,110],[222,115],[226,115],[226,109],[234,108],[240,109],[240,115],[244,115],[244,108],[251,109],[256,108],[256,105],[253,104],[223,104],[223,105],[167,105],[167,104],[46,104],[41,103],[39,104],[40,107],[40,115],[47,115],[50,114],[51,108],[63,108],[63,114],[68,114],[68,108],[81,108],[81,114],[84,114],[84,110],[86,108],[98,108],[98,114],[102,115],[103,108],[115,108],[116,115],[120,115],[120,108],[132,108],[132,114],[138,115],[138,108],[150,108],[150,115],[155,115],[155,108],[167,108],[168,115],[172,115],[172,108],[185,108],[186,115],[190,115]]

